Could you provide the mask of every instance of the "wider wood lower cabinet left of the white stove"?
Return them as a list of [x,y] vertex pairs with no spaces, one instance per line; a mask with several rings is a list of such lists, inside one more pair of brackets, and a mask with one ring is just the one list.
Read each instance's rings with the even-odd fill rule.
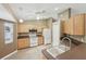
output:
[[17,49],[23,49],[29,47],[28,38],[17,39]]

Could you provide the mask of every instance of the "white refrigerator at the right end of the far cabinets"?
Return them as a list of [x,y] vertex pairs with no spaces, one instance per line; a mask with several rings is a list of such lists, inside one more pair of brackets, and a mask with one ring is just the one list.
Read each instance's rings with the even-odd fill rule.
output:
[[45,28],[42,31],[45,44],[51,43],[51,29]]

